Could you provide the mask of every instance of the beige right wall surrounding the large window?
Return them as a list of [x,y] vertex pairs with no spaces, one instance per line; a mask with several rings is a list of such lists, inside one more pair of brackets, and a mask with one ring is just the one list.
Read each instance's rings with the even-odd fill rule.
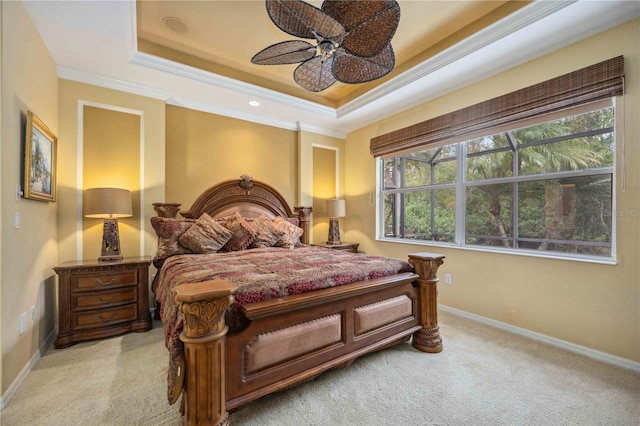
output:
[[[349,134],[346,192],[349,215],[345,240],[368,253],[406,258],[416,251],[446,255],[439,302],[598,351],[640,361],[640,20],[623,24],[495,77],[424,103]],[[618,113],[617,265],[495,254],[441,246],[375,241],[375,191],[369,155],[372,137],[544,81],[617,55],[625,57],[626,95]],[[626,182],[621,188],[622,139],[626,141]],[[363,179],[371,176],[371,179]],[[443,330],[445,347],[447,330]]]

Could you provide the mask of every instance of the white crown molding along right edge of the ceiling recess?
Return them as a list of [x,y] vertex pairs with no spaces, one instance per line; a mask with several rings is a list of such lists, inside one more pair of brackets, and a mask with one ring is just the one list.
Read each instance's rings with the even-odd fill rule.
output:
[[483,49],[498,40],[507,37],[540,19],[558,12],[577,0],[572,1],[541,1],[533,2],[512,15],[490,25],[484,30],[455,44],[454,46],[434,55],[432,58],[414,66],[393,79],[381,84],[358,98],[337,109],[337,117],[344,117],[358,109],[377,101],[391,93],[420,80],[444,67],[455,63],[465,56]]

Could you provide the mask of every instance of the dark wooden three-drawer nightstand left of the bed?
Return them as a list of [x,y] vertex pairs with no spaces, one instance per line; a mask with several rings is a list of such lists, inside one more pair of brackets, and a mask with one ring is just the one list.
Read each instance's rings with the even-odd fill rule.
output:
[[65,262],[58,283],[58,349],[151,329],[150,257]]

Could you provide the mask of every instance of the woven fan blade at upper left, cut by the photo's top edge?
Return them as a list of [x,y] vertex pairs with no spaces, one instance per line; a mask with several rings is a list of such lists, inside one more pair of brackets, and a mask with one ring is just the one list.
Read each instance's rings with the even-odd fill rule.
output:
[[344,27],[315,6],[301,0],[267,0],[267,13],[282,31],[301,38],[316,39],[316,34],[342,41]]

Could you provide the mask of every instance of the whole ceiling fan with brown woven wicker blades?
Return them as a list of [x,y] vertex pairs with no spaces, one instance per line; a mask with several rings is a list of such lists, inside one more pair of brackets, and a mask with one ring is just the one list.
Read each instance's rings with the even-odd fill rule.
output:
[[325,0],[322,7],[301,0],[266,0],[274,24],[293,36],[256,53],[257,65],[302,62],[293,72],[300,86],[320,92],[336,81],[356,84],[387,75],[395,65],[391,38],[400,22],[395,0]]

